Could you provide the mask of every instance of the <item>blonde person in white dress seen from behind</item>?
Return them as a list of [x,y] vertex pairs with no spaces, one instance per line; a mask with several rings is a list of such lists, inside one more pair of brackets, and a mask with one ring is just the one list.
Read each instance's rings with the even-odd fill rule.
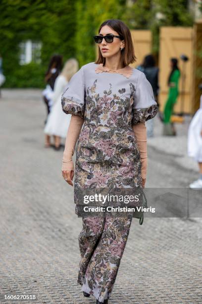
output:
[[59,76],[57,76],[54,84],[54,90],[52,92],[51,99],[53,105],[51,107],[50,114],[47,119],[47,123],[44,129],[44,133],[54,138],[54,149],[59,150],[61,145],[61,138],[66,138],[67,130],[71,115],[66,115],[62,111],[61,106],[61,94],[67,85],[70,78],[78,71],[79,64],[74,58],[69,59]]

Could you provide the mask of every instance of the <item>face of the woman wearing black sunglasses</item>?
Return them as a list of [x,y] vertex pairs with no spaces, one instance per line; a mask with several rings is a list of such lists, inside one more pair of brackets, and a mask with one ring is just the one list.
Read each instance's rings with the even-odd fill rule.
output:
[[[101,28],[99,35],[106,36],[109,34],[119,36],[119,34],[116,31],[114,31],[111,27],[109,27],[108,25],[104,25]],[[111,42],[111,43],[106,42],[104,38],[102,39],[102,42],[99,43],[101,55],[104,58],[111,57],[111,56],[117,54],[118,52],[120,52],[121,51],[120,47],[124,47],[124,41],[119,38],[116,38],[116,37],[113,38],[113,42]],[[105,49],[105,50],[102,50],[102,49]]]

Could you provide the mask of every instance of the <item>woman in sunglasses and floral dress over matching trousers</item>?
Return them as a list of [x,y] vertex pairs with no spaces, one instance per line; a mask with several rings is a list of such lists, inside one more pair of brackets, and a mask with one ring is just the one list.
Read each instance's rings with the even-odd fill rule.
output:
[[[152,86],[131,68],[136,60],[129,28],[118,19],[104,21],[96,62],[70,79],[62,94],[65,113],[72,114],[63,153],[62,175],[72,184],[78,214],[78,190],[144,187],[147,170],[145,121],[157,113]],[[79,234],[81,261],[77,282],[85,297],[108,303],[132,217],[83,217]]]

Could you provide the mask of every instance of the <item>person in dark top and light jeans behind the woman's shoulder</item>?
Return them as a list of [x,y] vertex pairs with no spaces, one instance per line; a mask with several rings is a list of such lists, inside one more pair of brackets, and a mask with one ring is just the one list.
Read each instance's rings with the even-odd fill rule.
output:
[[[158,104],[158,90],[159,90],[158,68],[155,67],[154,57],[152,55],[145,56],[143,64],[138,66],[136,69],[142,71],[145,74],[148,81],[151,83],[154,99],[155,99],[157,105],[159,106],[159,104]],[[153,137],[154,119],[155,119],[155,117],[146,121],[147,137]]]

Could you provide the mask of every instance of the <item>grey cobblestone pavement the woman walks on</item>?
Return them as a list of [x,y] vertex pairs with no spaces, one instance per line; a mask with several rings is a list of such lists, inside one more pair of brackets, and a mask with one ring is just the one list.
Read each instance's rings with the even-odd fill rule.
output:
[[[62,151],[44,148],[40,94],[4,89],[0,99],[0,293],[93,304],[76,283],[82,221],[61,176]],[[159,128],[156,121],[156,134]],[[197,178],[196,167],[177,160],[186,152],[173,151],[187,125],[177,128],[166,149],[160,136],[148,140],[147,187],[187,187]],[[109,303],[202,303],[201,266],[201,218],[147,218],[143,226],[133,219]]]

